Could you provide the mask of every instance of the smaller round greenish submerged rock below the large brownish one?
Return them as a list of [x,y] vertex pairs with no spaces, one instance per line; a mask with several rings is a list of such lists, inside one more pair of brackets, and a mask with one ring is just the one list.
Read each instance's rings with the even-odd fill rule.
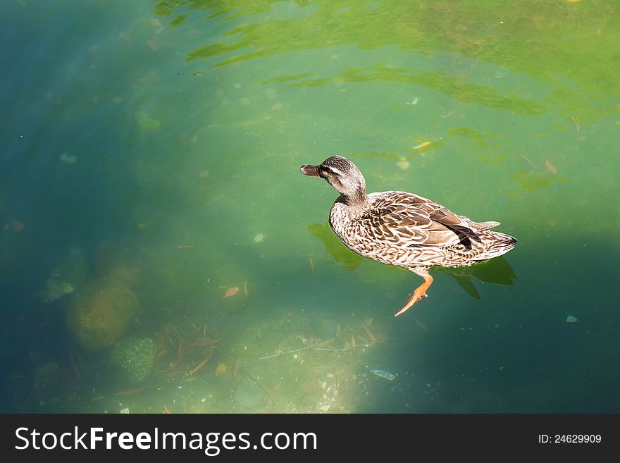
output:
[[153,370],[157,348],[151,338],[123,338],[110,352],[113,375],[125,383],[142,383]]

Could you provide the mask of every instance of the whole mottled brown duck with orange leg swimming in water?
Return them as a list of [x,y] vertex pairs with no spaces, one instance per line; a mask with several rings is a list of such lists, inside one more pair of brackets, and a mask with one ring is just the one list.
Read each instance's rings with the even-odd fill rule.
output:
[[324,178],[340,193],[329,225],[340,241],[362,257],[407,268],[423,278],[404,314],[433,284],[431,266],[471,266],[506,254],[515,237],[491,230],[500,222],[474,222],[431,199],[404,191],[366,194],[366,179],[344,156],[330,156],[318,166],[304,164],[301,173]]

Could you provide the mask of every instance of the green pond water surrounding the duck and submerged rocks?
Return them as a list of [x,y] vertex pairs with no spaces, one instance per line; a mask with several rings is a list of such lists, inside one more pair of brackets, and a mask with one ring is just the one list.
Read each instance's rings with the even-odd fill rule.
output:
[[[4,1],[2,410],[619,412],[619,11]],[[395,319],[421,278],[330,232],[331,154],[519,245]],[[158,344],[138,385],[43,300],[101,276]]]

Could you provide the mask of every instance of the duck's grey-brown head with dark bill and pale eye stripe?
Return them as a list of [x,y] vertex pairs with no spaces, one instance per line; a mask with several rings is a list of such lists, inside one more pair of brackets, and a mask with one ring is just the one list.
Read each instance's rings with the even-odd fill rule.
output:
[[299,168],[304,175],[321,177],[328,181],[342,197],[366,199],[366,180],[359,168],[342,156],[331,156],[318,166],[304,164]]

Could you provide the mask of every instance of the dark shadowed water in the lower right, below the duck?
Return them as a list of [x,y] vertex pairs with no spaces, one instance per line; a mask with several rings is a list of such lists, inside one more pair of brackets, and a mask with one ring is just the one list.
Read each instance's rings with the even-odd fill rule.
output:
[[521,243],[507,257],[519,283],[485,286],[483,305],[431,294],[393,328],[390,347],[407,353],[393,368],[406,374],[376,381],[381,398],[359,411],[620,412],[620,288],[600,280],[619,279],[618,249],[601,238]]

